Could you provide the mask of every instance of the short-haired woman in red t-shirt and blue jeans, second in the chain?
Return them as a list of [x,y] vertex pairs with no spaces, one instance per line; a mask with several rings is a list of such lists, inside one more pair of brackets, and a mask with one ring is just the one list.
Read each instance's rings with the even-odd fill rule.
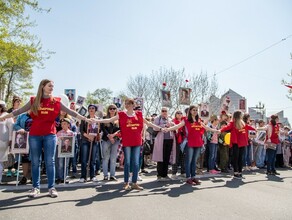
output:
[[[140,149],[142,146],[142,131],[144,123],[150,127],[162,130],[161,127],[148,122],[143,118],[141,111],[134,111],[134,100],[125,100],[125,111],[120,111],[118,114],[109,119],[92,119],[98,123],[110,123],[119,120],[122,145],[124,150],[124,189],[130,190],[137,189],[143,190],[143,187],[137,184],[138,171],[139,171],[139,157]],[[133,165],[132,186],[129,185],[130,163]]]

